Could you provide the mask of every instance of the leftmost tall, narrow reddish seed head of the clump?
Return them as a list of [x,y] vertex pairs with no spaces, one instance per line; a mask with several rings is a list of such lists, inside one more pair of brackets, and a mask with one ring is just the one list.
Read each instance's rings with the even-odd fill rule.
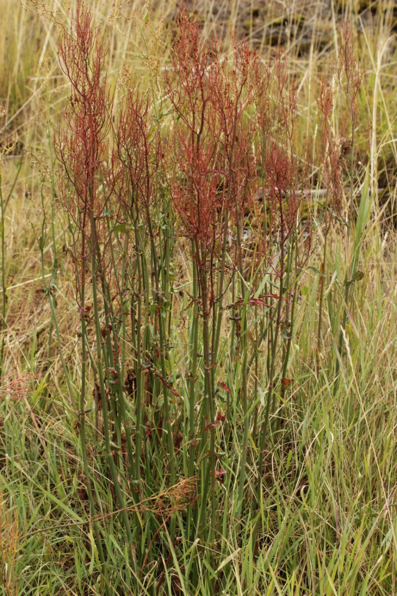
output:
[[75,239],[83,239],[73,245],[79,284],[92,251],[101,245],[104,256],[108,238],[102,216],[113,190],[114,160],[109,138],[112,97],[105,75],[107,51],[82,2],[77,4],[72,22],[75,32],[62,32],[58,51],[71,92],[54,135],[54,147],[62,164],[60,201],[76,225]]

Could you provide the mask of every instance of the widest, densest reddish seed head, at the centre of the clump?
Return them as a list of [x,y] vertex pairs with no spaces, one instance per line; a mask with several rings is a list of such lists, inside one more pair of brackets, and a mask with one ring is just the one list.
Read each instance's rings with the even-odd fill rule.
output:
[[242,216],[252,192],[256,172],[245,110],[253,101],[258,61],[245,42],[236,41],[231,60],[221,57],[216,36],[205,42],[185,12],[178,23],[172,69],[165,76],[176,114],[168,184],[182,234],[196,244],[200,268],[207,268],[224,250],[227,222]]

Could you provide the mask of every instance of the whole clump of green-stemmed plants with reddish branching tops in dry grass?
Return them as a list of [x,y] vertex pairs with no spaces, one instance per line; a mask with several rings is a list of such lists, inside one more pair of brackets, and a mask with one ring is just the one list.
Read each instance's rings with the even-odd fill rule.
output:
[[[263,66],[233,39],[223,54],[183,10],[158,105],[127,73],[115,113],[105,44],[81,3],[59,53],[71,92],[55,131],[58,204],[71,234],[90,513],[106,578],[93,452],[123,528],[129,589],[150,573],[161,586],[181,541],[210,546],[215,569],[228,524],[236,544],[248,513],[253,542],[260,533],[268,454],[287,432],[298,284],[311,254],[310,222],[300,225],[309,167],[296,143],[298,88],[281,51]],[[354,107],[349,85],[346,97]],[[333,100],[324,82],[327,232],[342,193]],[[317,353],[323,300],[321,281]],[[157,493],[171,495],[167,506]],[[194,585],[200,563],[187,565]]]

